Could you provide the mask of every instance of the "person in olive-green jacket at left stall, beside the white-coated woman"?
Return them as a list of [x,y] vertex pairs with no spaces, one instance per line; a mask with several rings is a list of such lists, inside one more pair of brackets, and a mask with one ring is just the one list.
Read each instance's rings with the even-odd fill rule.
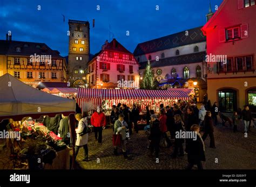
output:
[[69,117],[64,116],[62,114],[62,119],[59,122],[58,134],[60,138],[66,143],[66,145],[70,144],[70,134],[69,134]]

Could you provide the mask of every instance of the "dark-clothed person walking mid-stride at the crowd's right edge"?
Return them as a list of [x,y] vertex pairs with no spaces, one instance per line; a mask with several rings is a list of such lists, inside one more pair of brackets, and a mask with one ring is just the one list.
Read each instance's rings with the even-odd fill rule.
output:
[[210,111],[206,112],[205,115],[205,127],[204,127],[204,134],[202,136],[202,139],[205,141],[207,136],[209,135],[210,137],[210,147],[211,148],[216,148],[215,147],[215,141],[214,141],[214,127],[213,127],[213,120],[212,120],[212,114]]

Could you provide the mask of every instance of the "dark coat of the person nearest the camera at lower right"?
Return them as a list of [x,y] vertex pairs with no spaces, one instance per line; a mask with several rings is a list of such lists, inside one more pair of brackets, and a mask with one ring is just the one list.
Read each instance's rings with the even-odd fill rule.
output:
[[187,139],[186,142],[188,163],[197,164],[199,161],[205,161],[204,144],[199,135],[197,140]]

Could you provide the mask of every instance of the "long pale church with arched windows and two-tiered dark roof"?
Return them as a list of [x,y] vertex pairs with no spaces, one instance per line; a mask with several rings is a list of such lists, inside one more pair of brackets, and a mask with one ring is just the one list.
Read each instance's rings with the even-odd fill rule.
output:
[[[167,35],[137,45],[133,54],[138,60],[140,76],[143,76],[147,61],[150,61],[158,82],[188,88],[188,80],[201,83],[198,100],[206,93],[207,66],[206,37],[201,27]],[[193,84],[192,84],[193,85]],[[203,89],[203,90],[202,90]]]

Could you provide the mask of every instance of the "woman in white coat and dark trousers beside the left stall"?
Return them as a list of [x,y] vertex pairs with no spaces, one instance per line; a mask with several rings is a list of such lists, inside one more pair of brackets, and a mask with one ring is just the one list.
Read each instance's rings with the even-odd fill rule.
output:
[[75,147],[75,159],[77,157],[79,148],[81,146],[84,147],[84,159],[83,161],[88,162],[88,133],[80,136],[79,133],[82,133],[84,128],[88,126],[87,123],[87,114],[85,114],[85,118],[82,117],[82,114],[78,113],[76,114],[76,120],[78,121],[78,127],[76,128],[76,134],[77,134],[77,141],[76,141],[76,147]]

